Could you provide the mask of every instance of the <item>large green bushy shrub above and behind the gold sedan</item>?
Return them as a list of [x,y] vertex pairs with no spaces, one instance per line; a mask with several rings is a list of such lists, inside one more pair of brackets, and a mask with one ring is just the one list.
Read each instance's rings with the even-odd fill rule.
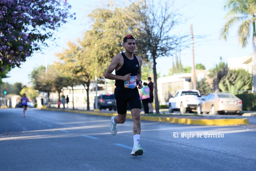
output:
[[[236,91],[246,91],[252,88],[252,75],[244,69],[228,70],[219,83],[221,91],[238,94]],[[241,93],[241,92],[240,92]]]

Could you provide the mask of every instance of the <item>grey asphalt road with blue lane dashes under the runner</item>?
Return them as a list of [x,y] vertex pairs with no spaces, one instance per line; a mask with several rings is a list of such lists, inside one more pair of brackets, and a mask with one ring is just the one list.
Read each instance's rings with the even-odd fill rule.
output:
[[110,117],[38,109],[23,117],[22,109],[0,109],[0,171],[256,170],[254,124],[141,121],[144,154],[137,157],[130,155],[132,124],[127,119],[112,136]]

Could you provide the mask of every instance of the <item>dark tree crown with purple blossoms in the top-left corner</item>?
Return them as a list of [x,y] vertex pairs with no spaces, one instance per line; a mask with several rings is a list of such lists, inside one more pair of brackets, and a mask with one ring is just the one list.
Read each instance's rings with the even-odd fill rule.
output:
[[47,46],[53,30],[75,19],[70,8],[66,0],[1,0],[0,72]]

